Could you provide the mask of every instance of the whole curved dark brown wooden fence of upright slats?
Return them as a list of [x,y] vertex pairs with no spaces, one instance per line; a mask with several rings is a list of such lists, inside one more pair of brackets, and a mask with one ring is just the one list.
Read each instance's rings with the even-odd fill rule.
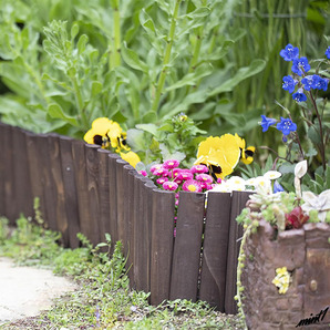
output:
[[165,299],[202,299],[236,312],[236,266],[241,228],[235,221],[249,193],[158,189],[118,155],[56,134],[33,134],[0,123],[0,215],[11,224],[33,214],[35,196],[66,247],[78,233],[93,244],[109,233],[122,240],[132,288]]

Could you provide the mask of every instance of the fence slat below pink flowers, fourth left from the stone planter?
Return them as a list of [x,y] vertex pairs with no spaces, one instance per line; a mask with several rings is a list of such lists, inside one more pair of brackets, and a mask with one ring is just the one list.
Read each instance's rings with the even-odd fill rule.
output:
[[152,194],[151,303],[169,298],[173,255],[174,193]]

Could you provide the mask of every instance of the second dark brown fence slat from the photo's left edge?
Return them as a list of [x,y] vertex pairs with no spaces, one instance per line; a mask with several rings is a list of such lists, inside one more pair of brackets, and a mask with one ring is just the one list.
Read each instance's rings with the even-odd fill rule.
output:
[[30,172],[25,133],[22,128],[16,127],[12,136],[13,153],[13,178],[16,193],[16,218],[22,213],[25,217],[33,216],[33,196],[31,193]]

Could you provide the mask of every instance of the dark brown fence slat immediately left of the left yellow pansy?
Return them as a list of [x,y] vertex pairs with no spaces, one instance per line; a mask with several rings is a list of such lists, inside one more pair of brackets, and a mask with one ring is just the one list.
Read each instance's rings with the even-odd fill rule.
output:
[[87,168],[85,161],[85,144],[82,141],[73,141],[71,147],[78,194],[80,231],[85,237],[89,237],[91,214],[87,188]]

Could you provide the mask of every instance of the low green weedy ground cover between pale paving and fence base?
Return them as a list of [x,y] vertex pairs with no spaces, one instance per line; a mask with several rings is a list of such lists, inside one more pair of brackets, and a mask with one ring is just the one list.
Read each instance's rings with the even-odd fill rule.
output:
[[[38,205],[35,205],[38,206]],[[60,234],[44,228],[42,218],[21,216],[17,227],[0,218],[0,256],[19,265],[48,267],[70,276],[79,289],[55,300],[35,318],[4,324],[6,329],[243,329],[234,316],[221,314],[203,301],[164,301],[149,306],[147,292],[128,288],[122,244],[105,241],[93,247],[81,234],[81,247],[64,249]]]

